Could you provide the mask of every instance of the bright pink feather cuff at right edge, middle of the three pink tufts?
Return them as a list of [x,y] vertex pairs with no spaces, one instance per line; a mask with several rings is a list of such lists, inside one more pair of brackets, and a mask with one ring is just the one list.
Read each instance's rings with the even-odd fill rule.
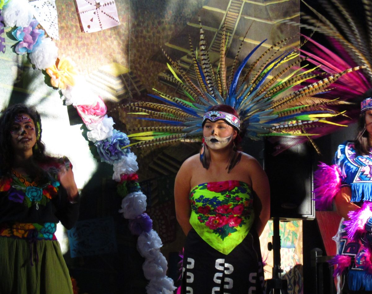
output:
[[350,240],[359,240],[363,234],[367,233],[364,226],[368,218],[372,216],[371,208],[372,202],[365,201],[362,207],[355,211],[350,211],[347,214],[350,220],[344,221],[344,224],[347,237],[349,237]]

